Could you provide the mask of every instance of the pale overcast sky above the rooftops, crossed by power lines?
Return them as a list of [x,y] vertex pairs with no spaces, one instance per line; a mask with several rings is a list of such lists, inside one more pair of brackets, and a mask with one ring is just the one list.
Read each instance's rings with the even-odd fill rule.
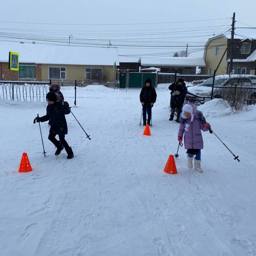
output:
[[72,35],[71,45],[106,47],[110,40],[133,57],[172,56],[186,44],[189,56],[202,57],[208,38],[231,28],[233,12],[236,27],[256,27],[255,0],[10,0],[1,9],[0,42],[69,44]]

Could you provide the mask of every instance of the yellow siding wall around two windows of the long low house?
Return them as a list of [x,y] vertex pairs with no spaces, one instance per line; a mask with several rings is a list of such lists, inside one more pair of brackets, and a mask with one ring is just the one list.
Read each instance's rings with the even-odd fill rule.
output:
[[42,64],[42,79],[48,79],[48,67],[63,67],[66,68],[66,79],[84,80],[85,68],[104,68],[110,73],[110,79],[113,75],[113,66],[97,66],[97,65],[51,65]]

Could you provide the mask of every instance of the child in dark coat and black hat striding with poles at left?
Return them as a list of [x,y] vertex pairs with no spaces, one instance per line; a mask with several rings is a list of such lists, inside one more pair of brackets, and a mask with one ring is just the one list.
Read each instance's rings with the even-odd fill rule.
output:
[[[74,157],[72,148],[65,140],[65,134],[68,134],[68,125],[65,115],[70,114],[68,102],[60,100],[59,94],[54,91],[48,92],[46,95],[48,106],[46,107],[46,115],[36,117],[36,122],[45,122],[49,120],[50,131],[48,139],[57,147],[55,155],[59,155],[62,149],[65,148],[68,159]],[[58,134],[59,140],[55,138]]]

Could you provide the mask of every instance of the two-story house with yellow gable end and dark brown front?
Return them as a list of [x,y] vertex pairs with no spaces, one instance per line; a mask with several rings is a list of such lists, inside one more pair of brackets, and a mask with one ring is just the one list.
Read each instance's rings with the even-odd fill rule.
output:
[[[205,44],[205,67],[201,68],[201,74],[213,75],[227,46],[224,58],[216,75],[228,73],[230,65],[231,30],[223,34],[209,38]],[[256,28],[235,28],[233,41],[233,73],[255,75],[256,70]]]

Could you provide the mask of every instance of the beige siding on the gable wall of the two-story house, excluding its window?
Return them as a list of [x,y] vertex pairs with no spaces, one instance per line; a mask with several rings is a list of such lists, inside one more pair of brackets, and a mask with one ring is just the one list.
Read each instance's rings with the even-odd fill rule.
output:
[[[214,56],[215,47],[218,45],[219,45],[219,55],[215,57]],[[227,39],[225,37],[220,37],[220,38],[211,40],[206,50],[206,56],[205,56],[206,66],[201,68],[201,74],[208,75],[208,69],[211,68],[211,75],[213,75],[214,70],[217,68],[220,62],[220,59],[226,48],[227,48]],[[216,75],[226,74],[226,71],[227,71],[226,56],[227,55],[225,54],[216,72]]]

